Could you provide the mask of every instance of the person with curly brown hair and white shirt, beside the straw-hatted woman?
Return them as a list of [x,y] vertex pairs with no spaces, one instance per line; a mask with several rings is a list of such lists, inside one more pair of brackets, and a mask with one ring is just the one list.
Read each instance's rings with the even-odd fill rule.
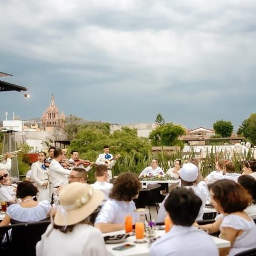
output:
[[138,198],[141,182],[133,172],[125,172],[117,177],[109,193],[109,200],[103,205],[94,226],[102,233],[125,229],[125,216],[136,220],[136,209],[133,199]]

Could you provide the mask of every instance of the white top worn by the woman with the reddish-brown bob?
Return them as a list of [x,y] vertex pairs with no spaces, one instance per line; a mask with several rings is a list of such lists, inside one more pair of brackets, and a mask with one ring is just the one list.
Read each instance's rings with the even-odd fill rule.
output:
[[222,215],[222,217],[224,218],[220,226],[220,231],[222,227],[243,230],[243,233],[236,237],[233,247],[229,251],[229,256],[253,249],[256,246],[256,224],[253,220],[247,221],[245,218],[234,214],[229,214],[228,216]]

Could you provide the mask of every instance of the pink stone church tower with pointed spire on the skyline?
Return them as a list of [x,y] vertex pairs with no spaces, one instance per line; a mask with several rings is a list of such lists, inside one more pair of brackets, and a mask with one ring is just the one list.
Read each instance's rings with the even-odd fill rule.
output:
[[54,96],[52,94],[49,108],[42,115],[42,129],[44,131],[53,131],[53,129],[64,129],[65,115],[59,114],[59,109],[55,106]]

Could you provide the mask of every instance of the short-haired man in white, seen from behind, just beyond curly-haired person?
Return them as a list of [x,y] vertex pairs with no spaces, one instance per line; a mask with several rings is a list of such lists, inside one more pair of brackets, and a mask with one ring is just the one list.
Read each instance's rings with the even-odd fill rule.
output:
[[103,205],[106,200],[109,199],[109,192],[113,188],[113,184],[108,182],[108,169],[103,164],[100,164],[96,167],[95,176],[96,183],[93,183],[92,187],[100,189],[102,192],[105,193],[105,198],[101,203],[101,205]]

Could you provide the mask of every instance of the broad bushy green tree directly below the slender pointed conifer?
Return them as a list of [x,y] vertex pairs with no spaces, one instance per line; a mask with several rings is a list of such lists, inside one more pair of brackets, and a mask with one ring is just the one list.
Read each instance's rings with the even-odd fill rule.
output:
[[165,123],[151,131],[149,138],[152,146],[175,146],[180,144],[178,138],[185,134],[186,131],[181,125]]

